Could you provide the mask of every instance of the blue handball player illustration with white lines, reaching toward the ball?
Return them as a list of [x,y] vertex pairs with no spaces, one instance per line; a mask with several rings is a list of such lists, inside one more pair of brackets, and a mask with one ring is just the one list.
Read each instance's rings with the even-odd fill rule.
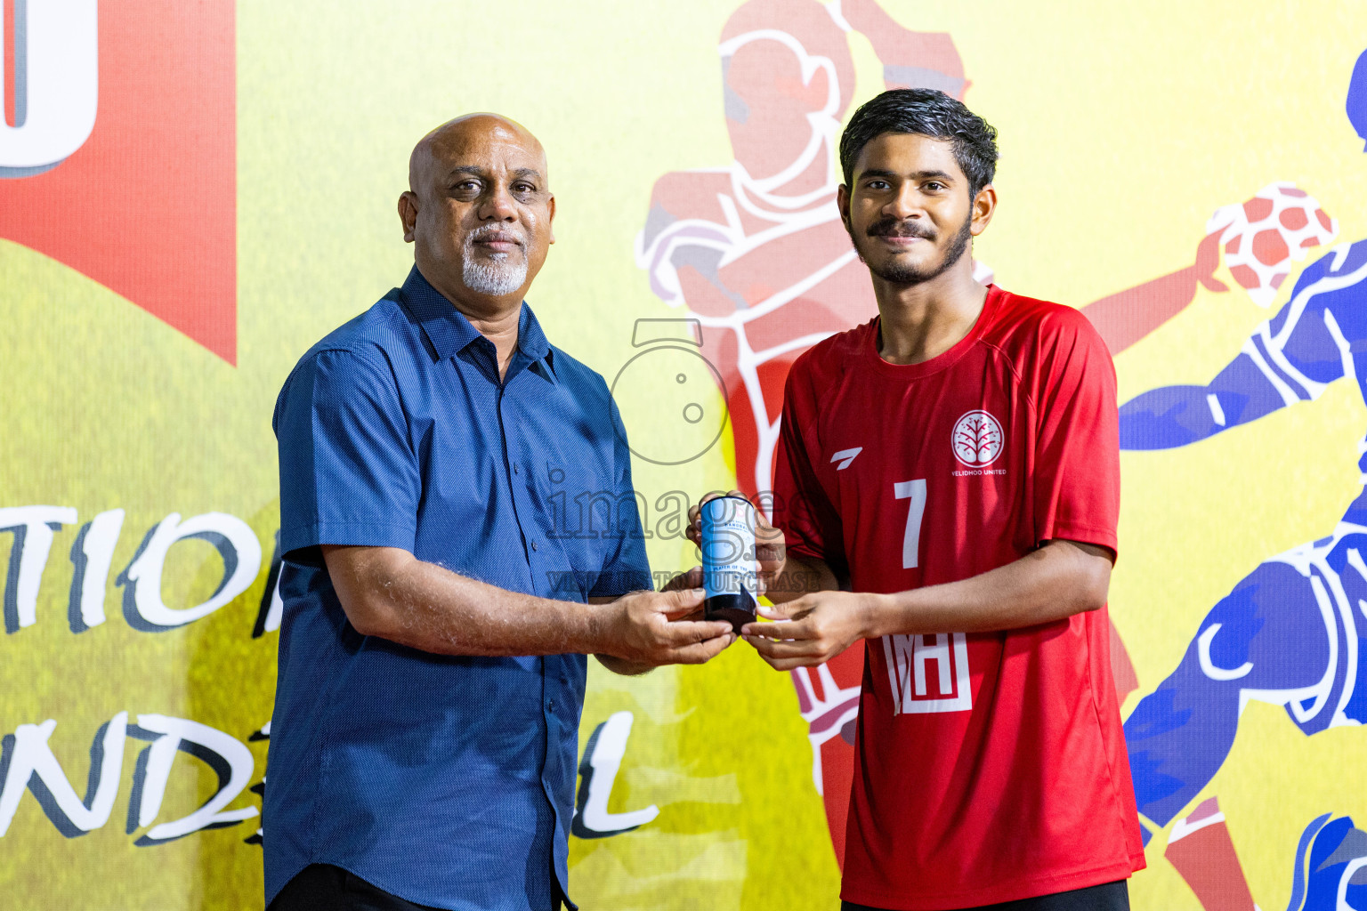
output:
[[[1367,139],[1367,52],[1346,108]],[[1367,399],[1367,240],[1310,265],[1290,302],[1208,385],[1151,389],[1125,403],[1121,448],[1184,447],[1311,402],[1345,377]],[[1357,449],[1367,481],[1367,440]],[[1166,826],[1200,792],[1233,747],[1249,699],[1285,706],[1307,735],[1367,721],[1364,636],[1367,488],[1327,537],[1270,557],[1236,585],[1172,676],[1135,707],[1125,739],[1139,811]]]

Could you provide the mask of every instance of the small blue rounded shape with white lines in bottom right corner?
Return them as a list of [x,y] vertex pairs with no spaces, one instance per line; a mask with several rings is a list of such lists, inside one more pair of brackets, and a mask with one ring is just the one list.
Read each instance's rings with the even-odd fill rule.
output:
[[1326,813],[1300,836],[1288,911],[1367,911],[1367,832]]

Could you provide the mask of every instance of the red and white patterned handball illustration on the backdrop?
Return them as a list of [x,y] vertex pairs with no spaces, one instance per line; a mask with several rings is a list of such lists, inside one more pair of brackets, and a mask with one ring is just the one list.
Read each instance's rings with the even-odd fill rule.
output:
[[1277,288],[1311,247],[1338,236],[1314,197],[1292,183],[1270,183],[1243,205],[1221,206],[1206,223],[1206,234],[1219,232],[1229,275],[1260,307],[1271,306]]

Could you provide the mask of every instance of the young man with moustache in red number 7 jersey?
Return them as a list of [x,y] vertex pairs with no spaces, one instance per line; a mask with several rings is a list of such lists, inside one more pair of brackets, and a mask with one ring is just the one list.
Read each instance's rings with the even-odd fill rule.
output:
[[761,565],[787,623],[742,632],[779,671],[868,641],[846,911],[1111,911],[1144,866],[1106,617],[1115,372],[1077,310],[973,280],[995,137],[925,89],[854,113],[838,202],[879,316],[787,377],[786,561]]

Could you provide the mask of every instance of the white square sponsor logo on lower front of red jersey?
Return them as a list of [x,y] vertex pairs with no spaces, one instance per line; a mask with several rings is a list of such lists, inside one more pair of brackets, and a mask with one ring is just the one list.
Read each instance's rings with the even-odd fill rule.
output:
[[883,636],[893,714],[969,712],[968,636],[962,632]]

